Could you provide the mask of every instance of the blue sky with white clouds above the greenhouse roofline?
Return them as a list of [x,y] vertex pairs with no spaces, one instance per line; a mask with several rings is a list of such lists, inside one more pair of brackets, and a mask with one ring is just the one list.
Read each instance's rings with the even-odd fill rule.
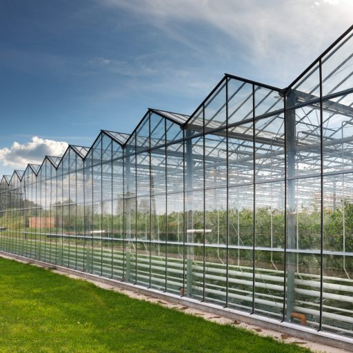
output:
[[224,72],[285,87],[352,25],[351,0],[1,0],[0,174],[159,108],[191,114]]

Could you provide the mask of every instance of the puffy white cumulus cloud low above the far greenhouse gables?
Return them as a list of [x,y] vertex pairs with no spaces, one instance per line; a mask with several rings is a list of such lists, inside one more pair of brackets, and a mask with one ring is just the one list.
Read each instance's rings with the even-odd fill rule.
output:
[[26,168],[28,163],[41,164],[44,157],[61,157],[68,148],[68,143],[32,137],[26,143],[14,142],[11,148],[0,149],[0,161],[12,168]]

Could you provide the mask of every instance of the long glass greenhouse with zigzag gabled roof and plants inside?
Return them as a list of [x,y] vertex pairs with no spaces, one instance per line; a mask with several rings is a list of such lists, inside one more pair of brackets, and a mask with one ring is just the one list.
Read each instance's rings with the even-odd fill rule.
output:
[[3,176],[0,250],[353,337],[353,26],[288,88],[225,74]]

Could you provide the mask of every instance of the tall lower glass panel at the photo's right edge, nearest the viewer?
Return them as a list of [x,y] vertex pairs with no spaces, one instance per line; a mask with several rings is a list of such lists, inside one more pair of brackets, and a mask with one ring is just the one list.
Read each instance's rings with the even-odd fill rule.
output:
[[323,195],[323,330],[353,336],[353,174],[324,177]]

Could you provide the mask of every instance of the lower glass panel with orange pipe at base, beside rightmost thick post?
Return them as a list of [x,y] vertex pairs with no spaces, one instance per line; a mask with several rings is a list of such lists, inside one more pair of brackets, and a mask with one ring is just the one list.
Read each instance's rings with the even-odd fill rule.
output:
[[[313,309],[320,292],[312,275],[321,268],[321,181],[319,178],[290,180],[287,184],[287,299],[286,320],[318,327],[319,312]],[[301,282],[305,280],[307,282]]]

